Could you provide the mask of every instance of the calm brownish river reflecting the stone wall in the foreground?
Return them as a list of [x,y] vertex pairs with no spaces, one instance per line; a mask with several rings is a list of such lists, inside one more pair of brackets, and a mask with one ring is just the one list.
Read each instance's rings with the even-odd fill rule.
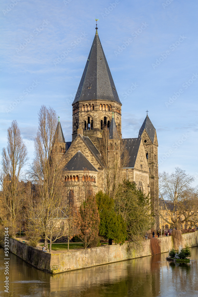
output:
[[9,293],[4,292],[0,248],[0,296],[194,297],[198,296],[198,247],[190,263],[166,261],[167,253],[51,275],[9,253]]

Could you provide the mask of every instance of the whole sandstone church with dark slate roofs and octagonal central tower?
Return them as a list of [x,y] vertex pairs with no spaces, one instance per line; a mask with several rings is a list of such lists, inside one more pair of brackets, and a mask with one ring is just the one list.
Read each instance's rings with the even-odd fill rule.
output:
[[[100,180],[103,163],[100,142],[104,127],[109,138],[121,134],[122,104],[116,91],[106,57],[96,34],[91,46],[77,93],[72,103],[72,141],[66,142],[58,121],[56,135],[64,154],[63,181],[68,202],[77,203],[83,181],[91,182],[95,192],[102,189]],[[137,138],[123,139],[129,153],[129,162],[123,176],[135,182],[146,195],[150,193],[155,211],[158,202],[158,142],[156,129],[148,115]],[[88,175],[85,176],[85,170]],[[102,189],[104,191],[104,189]]]

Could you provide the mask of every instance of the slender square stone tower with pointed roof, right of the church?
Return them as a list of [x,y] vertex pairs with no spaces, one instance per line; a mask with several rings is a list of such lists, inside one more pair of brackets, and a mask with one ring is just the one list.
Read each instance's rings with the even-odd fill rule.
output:
[[158,142],[156,129],[154,128],[148,114],[140,128],[138,137],[143,140],[145,154],[149,168],[149,185],[151,194],[151,210],[156,215],[156,228],[158,228],[157,206],[159,200],[158,194]]

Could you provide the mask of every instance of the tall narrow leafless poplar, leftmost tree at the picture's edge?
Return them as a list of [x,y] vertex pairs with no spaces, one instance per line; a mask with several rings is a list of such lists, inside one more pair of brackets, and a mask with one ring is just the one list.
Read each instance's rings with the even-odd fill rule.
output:
[[7,148],[2,150],[0,184],[3,190],[1,220],[10,227],[10,234],[14,237],[22,217],[25,184],[19,179],[28,160],[27,154],[17,121],[12,121],[7,130]]

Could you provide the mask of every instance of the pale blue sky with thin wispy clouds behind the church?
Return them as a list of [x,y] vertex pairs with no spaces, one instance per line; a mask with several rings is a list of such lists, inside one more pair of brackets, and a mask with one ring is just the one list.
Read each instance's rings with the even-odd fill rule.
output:
[[16,119],[31,162],[42,104],[56,110],[71,140],[71,104],[97,18],[122,102],[123,137],[138,136],[148,109],[159,172],[178,166],[198,183],[197,13],[195,0],[2,0],[0,150]]

